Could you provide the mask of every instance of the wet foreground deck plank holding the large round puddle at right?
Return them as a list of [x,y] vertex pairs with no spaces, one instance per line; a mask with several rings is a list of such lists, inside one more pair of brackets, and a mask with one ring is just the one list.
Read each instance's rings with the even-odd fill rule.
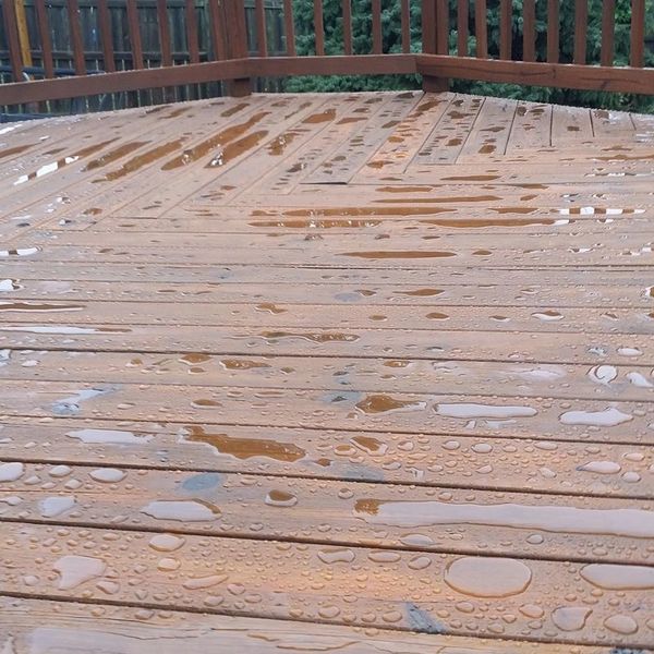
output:
[[[182,522],[197,516],[206,519],[211,512],[218,519],[210,502],[195,506],[201,508],[187,512]],[[161,511],[179,516],[183,509],[175,505]],[[608,638],[634,645],[649,642],[644,620],[654,598],[643,586],[651,584],[652,570],[641,566],[416,554],[194,534],[173,535],[172,543],[166,538],[160,544],[147,532],[64,531],[66,538],[58,538],[47,525],[7,523],[9,545],[3,554],[20,566],[2,572],[3,590],[25,597],[70,600],[84,584],[88,600],[109,595],[113,602],[144,608],[191,608],[243,617],[266,613],[276,619],[525,640],[547,639],[546,634],[555,631],[569,643],[584,639],[601,644]],[[60,547],[53,548],[52,540],[59,540]],[[120,556],[122,546],[131,549],[138,564]],[[21,567],[28,562],[29,573],[25,574]],[[52,570],[58,574],[51,574]],[[124,583],[124,578],[132,583]],[[578,604],[561,606],[557,591],[572,584]],[[604,592],[593,595],[597,588]],[[498,597],[501,614],[480,611],[473,622],[463,617],[470,608],[474,613]],[[592,598],[592,608],[584,606],[583,601]],[[639,611],[633,611],[635,606]],[[564,608],[568,610],[560,610]],[[531,613],[536,614],[535,619]],[[502,614],[511,617],[505,620]],[[574,629],[560,629],[560,625]]]

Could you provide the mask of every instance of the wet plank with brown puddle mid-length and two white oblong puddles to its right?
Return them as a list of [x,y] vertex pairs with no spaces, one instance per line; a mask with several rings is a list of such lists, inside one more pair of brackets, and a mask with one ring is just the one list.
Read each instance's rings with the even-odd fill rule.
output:
[[[583,439],[592,433],[603,443],[654,444],[647,403],[553,397],[495,395],[392,395],[341,389],[249,388],[75,384],[71,382],[4,380],[0,412],[80,421],[161,420],[181,425],[202,415],[208,423],[279,427],[395,431],[423,434],[470,434],[491,437]],[[463,390],[463,389],[460,389]],[[625,427],[628,423],[628,427]]]

